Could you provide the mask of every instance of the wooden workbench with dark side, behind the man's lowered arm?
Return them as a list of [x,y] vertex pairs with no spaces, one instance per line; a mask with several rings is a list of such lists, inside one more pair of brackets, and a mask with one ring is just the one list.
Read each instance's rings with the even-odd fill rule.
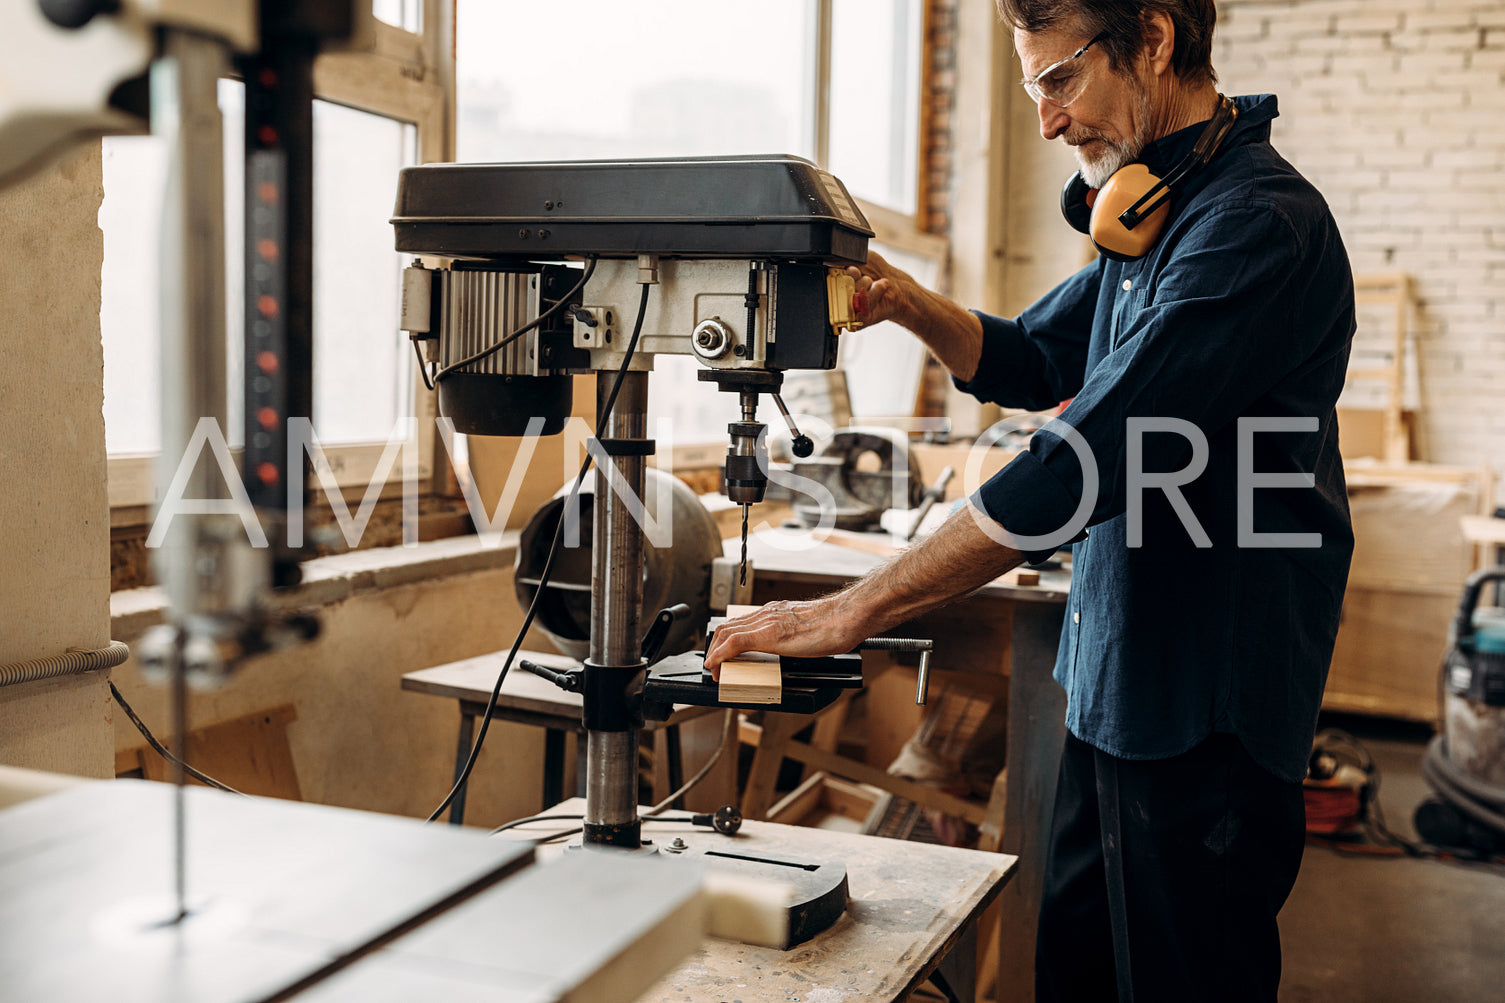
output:
[[[792,548],[796,544],[804,548]],[[728,556],[737,548],[737,541],[727,541]],[[748,539],[748,556],[756,569],[752,601],[757,604],[816,598],[883,563],[882,557],[861,550],[829,542],[810,545],[801,535],[781,530],[754,533]],[[1019,858],[1017,875],[999,898],[998,998],[1005,1000],[1034,998],[1035,922],[1057,771],[1066,742],[1066,691],[1050,673],[1069,589],[1066,571],[1043,571],[1037,586],[995,581],[966,599],[889,631],[935,642],[936,679],[981,673],[972,682],[1007,699],[1007,767],[993,785],[983,825],[984,846],[992,843]],[[865,697],[870,705],[874,697],[912,705],[912,684],[903,678],[897,685],[870,684]],[[918,723],[918,715],[915,720]],[[765,732],[768,729],[765,723]]]

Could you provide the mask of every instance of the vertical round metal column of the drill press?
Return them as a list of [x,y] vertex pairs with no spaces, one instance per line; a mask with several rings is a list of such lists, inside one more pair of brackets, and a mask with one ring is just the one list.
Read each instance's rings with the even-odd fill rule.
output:
[[[607,407],[616,377],[596,373],[597,414]],[[628,848],[640,845],[641,828],[638,726],[628,709],[628,690],[643,675],[643,527],[628,512],[619,489],[643,497],[647,395],[646,372],[625,373],[611,416],[597,426],[597,438],[611,455],[611,470],[602,467],[596,474],[585,663],[584,842]]]

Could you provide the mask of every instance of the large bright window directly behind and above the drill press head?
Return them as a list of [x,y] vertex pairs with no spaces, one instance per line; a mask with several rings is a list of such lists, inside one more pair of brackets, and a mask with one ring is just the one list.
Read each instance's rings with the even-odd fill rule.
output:
[[[923,0],[458,0],[458,160],[795,154],[858,196],[885,255],[920,256],[903,264],[938,279],[945,241],[915,224],[923,14]],[[843,367],[850,355],[883,370],[898,345],[918,386],[912,336],[862,339],[843,348]],[[737,419],[736,398],[695,387],[695,369],[659,357],[649,393],[650,420],[674,419],[682,443],[721,438]],[[912,411],[915,386],[888,383],[865,393],[867,414]],[[771,405],[762,417],[781,425]]]

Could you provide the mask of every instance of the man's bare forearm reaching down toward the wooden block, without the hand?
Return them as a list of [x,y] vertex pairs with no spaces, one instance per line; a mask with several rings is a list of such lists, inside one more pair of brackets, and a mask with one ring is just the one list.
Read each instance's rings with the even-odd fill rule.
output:
[[835,598],[871,637],[968,595],[1025,562],[1017,550],[983,532],[978,520],[986,518],[971,506],[963,508],[923,544]]

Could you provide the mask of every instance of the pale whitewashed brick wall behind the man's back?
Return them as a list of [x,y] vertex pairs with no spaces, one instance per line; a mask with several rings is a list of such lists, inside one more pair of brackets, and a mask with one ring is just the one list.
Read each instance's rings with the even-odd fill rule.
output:
[[1505,2],[1218,12],[1221,89],[1279,95],[1275,146],[1327,197],[1354,271],[1416,280],[1421,456],[1505,471]]

